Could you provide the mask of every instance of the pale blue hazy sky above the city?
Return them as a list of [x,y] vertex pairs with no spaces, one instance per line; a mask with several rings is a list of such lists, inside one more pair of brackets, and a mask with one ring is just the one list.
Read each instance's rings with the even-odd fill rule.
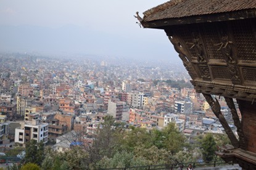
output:
[[0,51],[177,61],[163,30],[133,17],[167,0],[0,0]]

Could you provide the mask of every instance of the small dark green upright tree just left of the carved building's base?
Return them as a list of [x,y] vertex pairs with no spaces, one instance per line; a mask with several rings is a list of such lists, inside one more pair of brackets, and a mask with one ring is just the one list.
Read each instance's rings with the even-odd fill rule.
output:
[[208,133],[202,138],[201,143],[202,156],[205,163],[210,163],[215,158],[217,145],[212,134]]

